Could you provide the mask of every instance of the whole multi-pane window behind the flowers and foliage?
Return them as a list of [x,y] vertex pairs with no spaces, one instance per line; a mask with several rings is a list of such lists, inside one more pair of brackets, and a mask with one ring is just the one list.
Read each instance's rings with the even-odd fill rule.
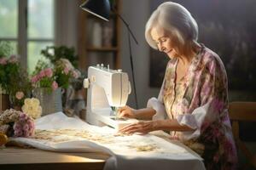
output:
[[12,44],[30,73],[41,50],[54,44],[54,9],[54,0],[0,0],[0,40]]

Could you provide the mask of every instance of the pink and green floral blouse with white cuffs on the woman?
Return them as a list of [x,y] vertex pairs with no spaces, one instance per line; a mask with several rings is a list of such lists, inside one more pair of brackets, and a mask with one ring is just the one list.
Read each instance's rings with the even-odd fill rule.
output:
[[201,45],[187,74],[176,83],[177,59],[166,66],[159,98],[149,99],[153,119],[176,119],[195,129],[171,132],[204,158],[207,169],[235,169],[236,146],[228,114],[228,82],[224,64],[210,49]]

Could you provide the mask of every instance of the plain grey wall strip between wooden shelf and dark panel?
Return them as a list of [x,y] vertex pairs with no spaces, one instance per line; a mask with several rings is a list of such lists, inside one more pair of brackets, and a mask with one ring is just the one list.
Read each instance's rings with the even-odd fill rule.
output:
[[[150,16],[148,0],[123,0],[122,15],[130,25],[139,45],[131,39],[131,50],[135,70],[135,79],[137,87],[137,99],[139,108],[145,107],[150,97],[158,96],[159,88],[149,87],[149,46],[144,37],[145,25]],[[122,25],[122,69],[127,71],[131,78],[131,65],[129,54],[129,43],[127,29]],[[163,65],[165,66],[165,65]],[[133,88],[132,88],[133,89]],[[135,107],[135,97],[132,93],[128,104]]]

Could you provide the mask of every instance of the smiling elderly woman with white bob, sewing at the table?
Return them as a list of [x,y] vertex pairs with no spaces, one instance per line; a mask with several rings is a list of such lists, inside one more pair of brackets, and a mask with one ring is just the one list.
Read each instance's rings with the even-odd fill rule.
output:
[[207,169],[235,169],[236,147],[228,113],[228,80],[218,54],[197,41],[198,26],[177,3],[162,3],[146,25],[148,44],[170,58],[158,99],[119,116],[143,120],[121,133],[164,130],[204,158]]

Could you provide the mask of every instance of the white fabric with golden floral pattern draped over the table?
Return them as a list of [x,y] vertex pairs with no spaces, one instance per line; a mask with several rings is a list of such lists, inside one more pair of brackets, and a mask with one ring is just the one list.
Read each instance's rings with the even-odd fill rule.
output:
[[[202,159],[195,152],[188,150],[183,144],[168,142],[154,135],[114,136],[116,132],[110,127],[95,127],[70,118],[58,112],[39,118],[36,121],[37,129],[44,130],[70,130],[84,132],[90,131],[91,135],[102,135],[102,139],[112,139],[111,143],[93,142],[79,137],[65,136],[68,141],[54,142],[42,139],[11,138],[21,144],[30,144],[38,149],[64,151],[64,152],[91,152],[104,151],[112,155],[105,164],[104,170],[114,169],[205,169]],[[55,136],[61,139],[61,136]],[[153,151],[137,151],[135,146],[156,147]]]

